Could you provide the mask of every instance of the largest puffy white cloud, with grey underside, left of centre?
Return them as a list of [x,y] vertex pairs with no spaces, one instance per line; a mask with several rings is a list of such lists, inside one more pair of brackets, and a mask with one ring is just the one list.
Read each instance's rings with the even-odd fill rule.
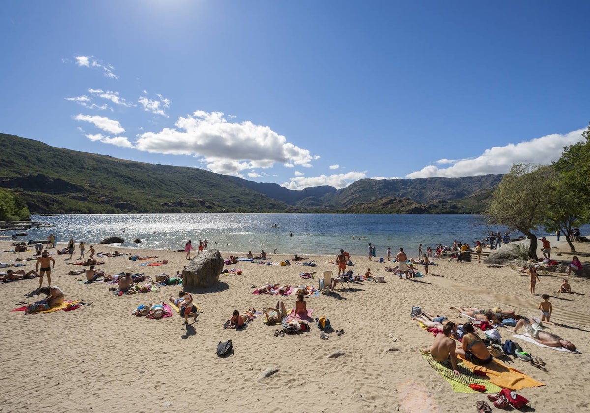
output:
[[287,142],[268,126],[228,122],[222,112],[197,110],[179,117],[175,129],[139,135],[135,148],[150,153],[192,155],[212,172],[238,175],[244,169],[271,168],[275,163],[311,166],[309,150]]

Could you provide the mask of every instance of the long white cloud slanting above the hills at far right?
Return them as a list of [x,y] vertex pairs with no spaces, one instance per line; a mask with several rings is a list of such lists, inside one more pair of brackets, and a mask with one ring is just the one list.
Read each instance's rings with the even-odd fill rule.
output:
[[[454,160],[451,162],[454,165],[448,168],[428,165],[420,171],[408,173],[405,177],[409,179],[430,178],[431,176],[458,178],[460,176],[486,175],[487,173],[506,173],[510,171],[513,163],[533,162],[548,165],[559,159],[564,146],[582,140],[583,131],[584,129],[574,130],[565,135],[553,133],[526,142],[493,146],[491,149],[486,149],[477,158]],[[446,161],[448,159],[441,159],[437,163],[448,163]]]

